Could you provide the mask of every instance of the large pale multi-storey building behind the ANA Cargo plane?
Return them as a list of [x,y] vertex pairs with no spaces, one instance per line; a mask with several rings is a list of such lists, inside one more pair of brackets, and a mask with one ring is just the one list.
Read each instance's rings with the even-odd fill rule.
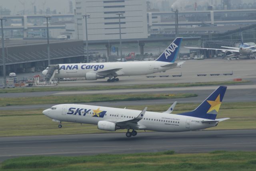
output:
[[[87,19],[88,40],[119,39],[119,20],[121,18],[122,39],[147,38],[146,0],[76,0],[75,22],[79,39],[86,40],[85,13]],[[78,28],[78,29],[77,29]]]

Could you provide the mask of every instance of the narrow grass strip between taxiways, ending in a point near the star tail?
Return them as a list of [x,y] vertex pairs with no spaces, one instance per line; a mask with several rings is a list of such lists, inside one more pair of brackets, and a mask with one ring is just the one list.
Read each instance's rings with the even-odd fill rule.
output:
[[0,106],[10,105],[35,105],[52,103],[88,103],[100,101],[134,101],[134,100],[152,100],[152,99],[174,99],[196,97],[197,94],[178,93],[172,96],[166,96],[164,93],[146,94],[146,93],[126,93],[126,94],[90,94],[90,95],[49,95],[43,97],[10,97],[0,98]]

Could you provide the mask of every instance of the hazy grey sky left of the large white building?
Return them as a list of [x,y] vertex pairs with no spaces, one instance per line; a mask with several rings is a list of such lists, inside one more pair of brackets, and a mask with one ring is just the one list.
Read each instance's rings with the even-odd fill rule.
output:
[[[45,9],[47,7],[50,7],[51,10],[56,9],[57,12],[61,13],[68,13],[68,2],[69,0],[20,0],[22,3],[25,2],[25,8],[26,10],[32,10],[32,3],[35,2],[35,6],[37,8],[37,11],[39,9],[42,9],[43,3],[45,2]],[[73,1],[73,0],[72,0]],[[19,2],[19,0],[0,0],[0,6],[2,8],[7,8],[12,11],[12,14],[14,13],[15,6],[16,6],[16,12],[23,10],[23,5]]]

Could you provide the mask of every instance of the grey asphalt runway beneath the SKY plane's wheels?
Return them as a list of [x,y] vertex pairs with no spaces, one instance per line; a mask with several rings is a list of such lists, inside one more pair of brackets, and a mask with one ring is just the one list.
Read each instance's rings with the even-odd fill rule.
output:
[[[86,132],[86,130],[85,130]],[[174,150],[200,153],[214,150],[256,151],[256,129],[0,137],[0,161],[29,155],[95,155]]]

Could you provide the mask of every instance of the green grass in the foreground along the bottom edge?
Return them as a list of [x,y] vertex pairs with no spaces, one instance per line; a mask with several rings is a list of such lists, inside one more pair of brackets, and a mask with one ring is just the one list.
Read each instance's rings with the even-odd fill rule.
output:
[[176,154],[173,151],[62,157],[32,156],[8,159],[2,171],[255,171],[256,152],[213,151]]

